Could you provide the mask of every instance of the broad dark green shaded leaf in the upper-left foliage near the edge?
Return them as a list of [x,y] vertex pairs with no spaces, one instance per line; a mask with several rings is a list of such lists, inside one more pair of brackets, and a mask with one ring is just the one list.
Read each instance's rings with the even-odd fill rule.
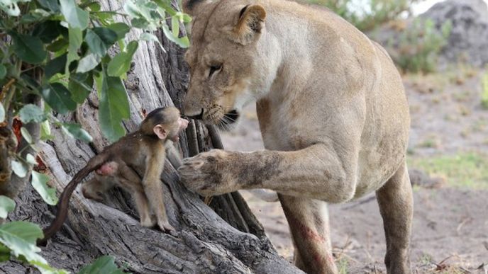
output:
[[48,57],[48,52],[44,50],[43,41],[40,38],[19,33],[11,33],[11,36],[13,52],[23,61],[40,64]]

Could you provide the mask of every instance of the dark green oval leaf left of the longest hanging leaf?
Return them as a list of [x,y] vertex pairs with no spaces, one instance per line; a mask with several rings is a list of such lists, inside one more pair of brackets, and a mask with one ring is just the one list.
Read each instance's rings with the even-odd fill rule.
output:
[[53,110],[58,113],[66,114],[70,110],[75,110],[77,103],[71,98],[71,93],[60,83],[50,84],[43,88],[41,95]]

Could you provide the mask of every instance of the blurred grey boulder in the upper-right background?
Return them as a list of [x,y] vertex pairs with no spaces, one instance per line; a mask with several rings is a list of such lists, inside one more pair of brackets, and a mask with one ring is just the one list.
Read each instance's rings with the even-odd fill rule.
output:
[[483,0],[447,0],[435,4],[421,18],[429,18],[436,28],[448,20],[452,30],[441,61],[464,61],[474,66],[488,64],[488,7]]

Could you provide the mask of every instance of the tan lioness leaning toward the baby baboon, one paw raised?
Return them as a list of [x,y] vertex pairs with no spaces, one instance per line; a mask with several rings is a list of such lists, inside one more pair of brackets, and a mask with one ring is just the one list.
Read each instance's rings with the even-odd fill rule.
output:
[[409,273],[409,107],[387,52],[325,8],[284,0],[183,5],[194,16],[184,113],[226,125],[257,101],[266,148],[186,159],[179,173],[187,188],[277,191],[294,263],[307,273],[338,272],[327,203],[376,191],[388,273]]

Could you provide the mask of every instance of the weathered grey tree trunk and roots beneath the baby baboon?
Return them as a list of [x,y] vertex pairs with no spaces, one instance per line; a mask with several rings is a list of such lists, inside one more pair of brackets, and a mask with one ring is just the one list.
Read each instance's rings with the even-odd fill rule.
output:
[[[111,10],[120,7],[113,0],[102,4]],[[128,131],[138,125],[143,110],[181,106],[187,84],[183,51],[159,36],[167,53],[157,45],[141,42],[126,81],[131,104],[131,120],[124,123]],[[96,93],[92,92],[74,115],[58,116],[81,123],[94,137],[92,144],[66,137],[60,129],[52,130],[52,142],[40,144],[40,156],[47,166],[44,172],[58,191],[107,144],[99,131],[97,106]],[[180,142],[185,157],[221,147],[215,129],[199,122],[191,123]],[[214,211],[199,195],[179,184],[176,169],[177,163],[167,161],[162,174],[168,217],[177,229],[174,236],[141,227],[128,193],[111,190],[106,202],[99,203],[83,198],[77,190],[67,222],[43,247],[42,255],[52,266],[72,271],[109,254],[121,265],[127,263],[133,273],[301,273],[277,254],[238,193],[212,198]],[[16,211],[9,219],[25,219],[46,227],[54,217],[55,208],[48,207],[30,186],[16,202]],[[26,273],[26,268],[11,261],[0,265],[0,272]]]

